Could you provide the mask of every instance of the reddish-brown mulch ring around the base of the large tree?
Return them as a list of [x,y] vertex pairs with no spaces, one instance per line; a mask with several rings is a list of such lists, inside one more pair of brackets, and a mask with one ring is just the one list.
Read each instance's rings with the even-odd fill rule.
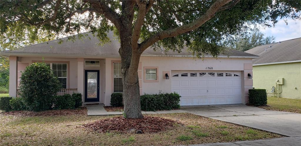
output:
[[156,133],[174,127],[174,120],[144,116],[142,119],[126,119],[122,116],[107,118],[93,123],[85,124],[84,127],[96,132],[129,132],[130,129],[141,130],[143,133]]

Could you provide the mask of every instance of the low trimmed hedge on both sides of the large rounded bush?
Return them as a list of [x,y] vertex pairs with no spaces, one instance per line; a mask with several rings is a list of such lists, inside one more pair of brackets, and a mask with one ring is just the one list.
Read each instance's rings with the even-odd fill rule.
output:
[[[82,106],[82,94],[73,93],[65,95],[56,95],[52,101],[54,110],[57,109],[75,109]],[[50,108],[49,108],[50,109]],[[1,97],[0,98],[0,110],[11,111],[11,110],[30,110],[29,106],[26,106],[23,98],[11,98]]]

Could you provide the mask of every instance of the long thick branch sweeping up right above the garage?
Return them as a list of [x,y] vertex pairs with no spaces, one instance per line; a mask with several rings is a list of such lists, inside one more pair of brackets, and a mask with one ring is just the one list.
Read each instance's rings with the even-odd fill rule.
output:
[[210,8],[206,11],[206,13],[200,18],[198,18],[197,20],[193,21],[192,23],[184,24],[176,28],[163,30],[159,33],[156,33],[150,38],[141,42],[138,46],[138,49],[140,49],[142,53],[145,49],[147,49],[149,46],[153,45],[155,42],[159,40],[169,38],[169,37],[175,37],[182,33],[197,29],[198,27],[206,23],[208,20],[210,20],[212,17],[214,17],[214,14],[219,10],[219,8],[228,4],[230,1],[231,0],[223,0],[223,1],[214,2],[213,5],[211,5]]

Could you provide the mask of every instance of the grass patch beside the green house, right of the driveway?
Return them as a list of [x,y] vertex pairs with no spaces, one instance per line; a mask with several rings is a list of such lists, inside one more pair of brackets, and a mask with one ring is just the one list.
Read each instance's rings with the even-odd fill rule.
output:
[[260,108],[301,113],[301,99],[268,97],[267,106],[260,106]]

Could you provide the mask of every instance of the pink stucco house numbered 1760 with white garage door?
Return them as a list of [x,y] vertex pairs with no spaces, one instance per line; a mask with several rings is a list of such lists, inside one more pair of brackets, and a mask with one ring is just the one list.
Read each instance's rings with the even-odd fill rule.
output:
[[[110,105],[113,92],[123,92],[120,73],[120,43],[108,33],[111,42],[99,46],[98,39],[58,40],[1,52],[10,60],[9,95],[17,96],[20,71],[44,57],[62,82],[62,92],[82,93],[83,103]],[[67,38],[62,38],[67,40]],[[149,48],[141,55],[138,76],[140,94],[178,92],[180,105],[244,104],[248,89],[252,89],[252,58],[258,56],[229,50],[227,55],[204,61],[183,49],[177,52],[154,51]],[[166,74],[169,76],[166,79]],[[248,76],[249,74],[249,76]],[[38,75],[37,75],[38,76]]]

